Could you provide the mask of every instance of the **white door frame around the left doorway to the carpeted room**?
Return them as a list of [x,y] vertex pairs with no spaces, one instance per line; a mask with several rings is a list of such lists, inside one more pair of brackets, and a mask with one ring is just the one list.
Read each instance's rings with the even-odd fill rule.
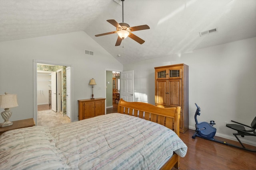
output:
[[59,65],[59,66],[70,66],[70,122],[74,121],[72,113],[74,113],[74,102],[73,102],[73,65],[72,64],[63,64],[63,63],[56,63],[51,61],[42,61],[33,59],[33,118],[35,124],[37,125],[37,64],[52,64],[52,65]]

